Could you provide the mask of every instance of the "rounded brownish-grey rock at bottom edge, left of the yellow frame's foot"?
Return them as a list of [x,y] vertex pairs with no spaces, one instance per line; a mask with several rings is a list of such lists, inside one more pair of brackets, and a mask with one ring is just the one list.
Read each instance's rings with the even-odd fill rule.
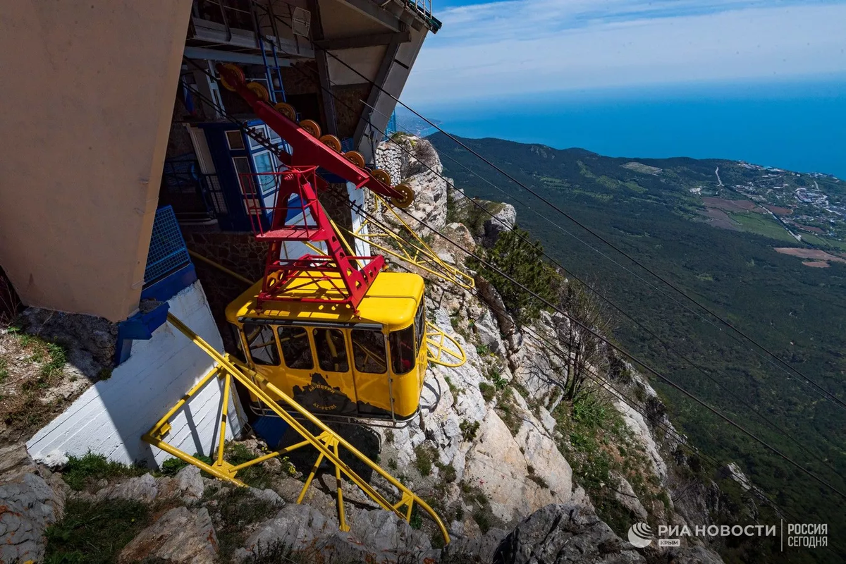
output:
[[206,508],[192,512],[187,507],[174,507],[129,541],[118,562],[151,558],[204,564],[215,561],[216,556],[217,535]]

